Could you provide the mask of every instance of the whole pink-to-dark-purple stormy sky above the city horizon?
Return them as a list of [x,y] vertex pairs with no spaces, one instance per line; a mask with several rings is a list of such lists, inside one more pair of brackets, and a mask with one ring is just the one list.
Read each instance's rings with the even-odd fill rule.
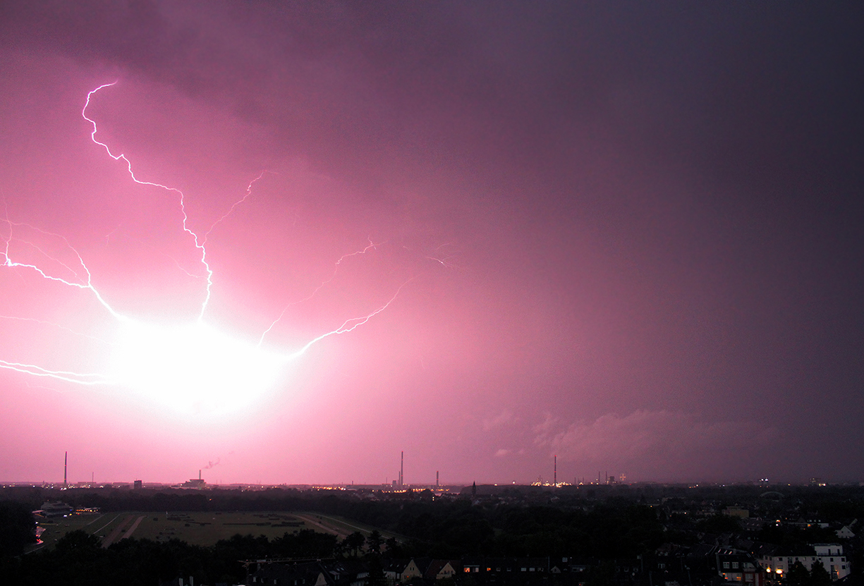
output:
[[0,3],[0,481],[864,481],[862,24]]

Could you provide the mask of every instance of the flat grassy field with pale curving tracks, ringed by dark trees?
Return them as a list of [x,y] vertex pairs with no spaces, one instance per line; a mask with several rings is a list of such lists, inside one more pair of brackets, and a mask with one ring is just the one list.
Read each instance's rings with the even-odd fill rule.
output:
[[188,544],[213,545],[237,533],[269,539],[304,528],[334,533],[320,525],[308,525],[290,513],[97,513],[47,519],[40,525],[45,528],[41,538],[46,547],[76,529],[98,536],[106,546],[126,537],[155,541],[175,538]]

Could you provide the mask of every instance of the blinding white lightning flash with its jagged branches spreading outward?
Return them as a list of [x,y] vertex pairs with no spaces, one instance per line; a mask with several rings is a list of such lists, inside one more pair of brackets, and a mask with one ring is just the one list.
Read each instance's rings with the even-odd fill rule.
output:
[[[181,211],[181,228],[192,237],[195,248],[200,251],[200,263],[206,273],[206,290],[200,304],[200,310],[196,318],[190,318],[185,322],[162,324],[154,322],[143,322],[122,315],[105,301],[105,298],[92,283],[91,271],[87,268],[84,258],[81,257],[73,246],[59,234],[44,232],[34,226],[16,223],[9,220],[6,213],[5,223],[9,226],[8,237],[4,236],[3,266],[7,268],[26,269],[34,271],[40,277],[78,290],[86,290],[95,296],[98,303],[111,315],[116,330],[104,337],[95,337],[90,334],[81,334],[71,328],[44,322],[33,318],[0,315],[0,319],[22,320],[40,324],[49,324],[56,328],[62,328],[67,332],[81,337],[92,338],[105,344],[109,348],[106,358],[105,373],[79,373],[73,370],[49,369],[36,364],[26,364],[15,360],[0,359],[0,368],[23,373],[33,377],[55,379],[76,385],[114,385],[118,388],[128,389],[140,393],[156,404],[162,405],[171,411],[187,414],[230,414],[241,411],[254,404],[262,395],[269,391],[276,380],[283,373],[289,361],[295,360],[305,354],[309,347],[318,341],[334,334],[346,334],[365,324],[375,315],[387,309],[393,303],[402,288],[410,282],[404,282],[391,296],[391,298],[372,312],[346,319],[339,328],[325,332],[314,337],[296,350],[282,350],[276,352],[272,349],[262,347],[264,335],[276,326],[285,313],[276,317],[270,327],[264,330],[256,343],[251,343],[235,336],[220,331],[219,328],[205,321],[207,303],[210,301],[213,290],[213,270],[207,263],[206,240],[219,223],[225,221],[234,211],[235,207],[245,202],[252,194],[252,187],[264,176],[262,171],[253,179],[246,188],[245,195],[235,201],[228,211],[222,214],[218,220],[204,233],[202,237],[188,227],[188,216],[185,207],[184,195],[177,188],[171,188],[160,183],[142,181],[137,178],[132,163],[124,155],[115,155],[107,144],[97,140],[98,132],[96,121],[87,116],[87,108],[90,106],[93,95],[99,90],[114,86],[117,82],[98,86],[87,93],[86,102],[81,116],[92,125],[90,137],[93,143],[105,149],[108,156],[115,161],[122,160],[129,172],[133,182],[139,185],[160,188],[169,193],[176,194],[179,198]],[[13,232],[19,226],[41,232],[54,239],[60,239],[69,251],[73,252],[74,258],[79,266],[63,263],[58,258],[51,257],[35,244],[22,239],[16,239]],[[48,258],[54,266],[61,266],[73,277],[58,277],[53,271],[40,267],[32,262],[17,262],[12,258],[13,241],[23,245],[29,245],[32,249]],[[364,254],[376,249],[376,244],[369,240],[369,245],[364,249],[344,255],[336,261],[333,275],[321,283],[311,295],[303,299],[307,301],[314,296],[321,287],[332,281],[336,276],[340,263],[348,257]],[[440,259],[438,262],[443,262]],[[55,270],[56,271],[56,270]],[[188,273],[187,273],[188,274]],[[302,303],[302,302],[296,302]],[[292,303],[293,304],[293,303]],[[287,309],[287,308],[286,308]]]

